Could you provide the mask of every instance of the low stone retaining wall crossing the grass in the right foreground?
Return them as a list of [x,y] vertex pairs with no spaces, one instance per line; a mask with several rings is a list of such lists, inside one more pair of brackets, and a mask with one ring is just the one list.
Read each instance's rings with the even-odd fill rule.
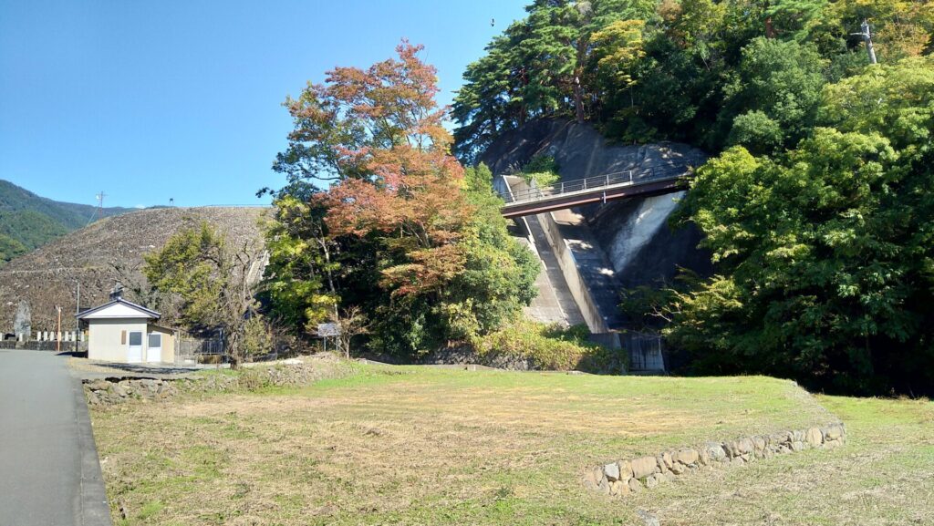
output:
[[846,440],[842,423],[801,431],[757,435],[730,442],[708,442],[701,448],[668,451],[654,457],[611,462],[597,466],[584,477],[591,490],[609,495],[625,495],[655,488],[705,467],[743,465],[775,455],[808,448],[835,448]]

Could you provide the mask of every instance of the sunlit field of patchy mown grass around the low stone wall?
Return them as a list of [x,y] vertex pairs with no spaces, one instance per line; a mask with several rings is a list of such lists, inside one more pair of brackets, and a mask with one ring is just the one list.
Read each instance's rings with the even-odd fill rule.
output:
[[[581,483],[596,463],[838,418],[845,448],[625,498]],[[934,523],[930,403],[815,399],[766,377],[360,366],[92,419],[124,524],[644,524],[640,511],[662,525]]]

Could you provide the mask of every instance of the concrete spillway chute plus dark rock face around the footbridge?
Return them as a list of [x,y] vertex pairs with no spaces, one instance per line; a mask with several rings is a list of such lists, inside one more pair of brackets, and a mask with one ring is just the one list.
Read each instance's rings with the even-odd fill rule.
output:
[[[501,176],[495,178],[499,192],[522,195],[528,183],[510,174],[542,155],[555,159],[559,182],[705,158],[684,144],[616,145],[587,123],[541,120],[503,134],[479,161]],[[635,195],[512,218],[513,235],[542,262],[539,295],[527,316],[586,323],[596,340],[616,346],[632,329],[618,308],[620,291],[671,283],[679,267],[709,275],[710,257],[697,249],[700,232],[668,224],[684,193]]]

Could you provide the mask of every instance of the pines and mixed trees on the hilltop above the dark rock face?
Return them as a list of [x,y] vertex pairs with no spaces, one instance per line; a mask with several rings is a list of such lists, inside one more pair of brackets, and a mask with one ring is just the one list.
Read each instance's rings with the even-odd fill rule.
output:
[[[456,151],[474,160],[531,119],[592,121],[611,138],[719,150],[794,146],[821,85],[929,50],[934,7],[908,0],[536,0],[464,72]],[[735,130],[734,130],[735,128]]]

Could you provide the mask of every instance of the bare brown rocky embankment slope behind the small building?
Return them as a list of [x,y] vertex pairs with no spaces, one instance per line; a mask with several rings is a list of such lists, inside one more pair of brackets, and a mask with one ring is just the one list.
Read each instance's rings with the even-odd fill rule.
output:
[[[11,332],[21,300],[32,308],[33,330],[51,330],[63,307],[63,324],[74,324],[76,282],[81,306],[103,303],[120,279],[120,264],[140,280],[143,254],[163,246],[186,225],[206,220],[230,242],[261,241],[259,220],[265,208],[150,208],[98,220],[77,232],[35,249],[0,268],[0,332]],[[128,296],[129,297],[129,296]],[[130,297],[130,299],[133,299]]]

